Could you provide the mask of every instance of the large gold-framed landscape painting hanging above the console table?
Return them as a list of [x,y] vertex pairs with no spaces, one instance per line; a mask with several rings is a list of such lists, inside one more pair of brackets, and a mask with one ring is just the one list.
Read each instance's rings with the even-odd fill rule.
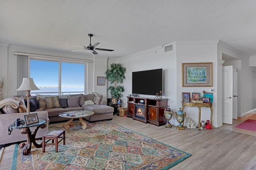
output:
[[212,63],[182,63],[182,87],[212,87]]

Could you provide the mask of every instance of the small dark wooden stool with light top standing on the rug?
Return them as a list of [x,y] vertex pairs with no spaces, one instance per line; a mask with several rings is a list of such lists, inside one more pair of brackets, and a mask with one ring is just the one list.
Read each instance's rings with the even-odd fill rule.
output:
[[[62,137],[61,137],[62,135]],[[66,139],[65,139],[65,130],[63,131],[51,131],[50,133],[48,133],[47,135],[42,137],[42,147],[43,147],[43,152],[45,152],[45,146],[46,145],[55,145],[55,152],[58,152],[58,143],[60,143],[60,141],[58,141],[58,138],[61,138],[60,141],[62,141],[63,139],[63,145],[65,145],[66,143]],[[48,141],[45,142],[46,139],[49,139]],[[52,143],[47,143],[50,140],[52,140]],[[54,143],[55,140],[55,143]]]

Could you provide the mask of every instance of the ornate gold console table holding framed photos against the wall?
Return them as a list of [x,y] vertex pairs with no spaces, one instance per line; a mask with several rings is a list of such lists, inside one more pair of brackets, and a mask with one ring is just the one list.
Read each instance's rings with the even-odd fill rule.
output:
[[211,126],[212,129],[214,126],[212,125],[212,115],[213,115],[213,109],[212,109],[212,103],[188,103],[188,102],[182,102],[182,112],[184,110],[184,107],[198,107],[198,131],[200,131],[200,122],[201,122],[201,107],[210,107],[211,109]]

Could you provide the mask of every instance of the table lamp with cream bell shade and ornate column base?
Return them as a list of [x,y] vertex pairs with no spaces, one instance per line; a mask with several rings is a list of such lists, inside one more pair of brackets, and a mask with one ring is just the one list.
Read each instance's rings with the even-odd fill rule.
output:
[[33,78],[23,78],[22,83],[20,87],[16,91],[23,91],[26,90],[26,98],[28,102],[28,114],[30,114],[30,90],[40,90],[38,87],[36,87],[36,84],[33,81]]

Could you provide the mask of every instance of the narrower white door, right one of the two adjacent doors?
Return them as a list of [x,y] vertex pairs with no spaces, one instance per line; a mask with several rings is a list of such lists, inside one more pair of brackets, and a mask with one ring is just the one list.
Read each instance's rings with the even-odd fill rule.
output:
[[233,119],[237,119],[237,68],[233,69]]

